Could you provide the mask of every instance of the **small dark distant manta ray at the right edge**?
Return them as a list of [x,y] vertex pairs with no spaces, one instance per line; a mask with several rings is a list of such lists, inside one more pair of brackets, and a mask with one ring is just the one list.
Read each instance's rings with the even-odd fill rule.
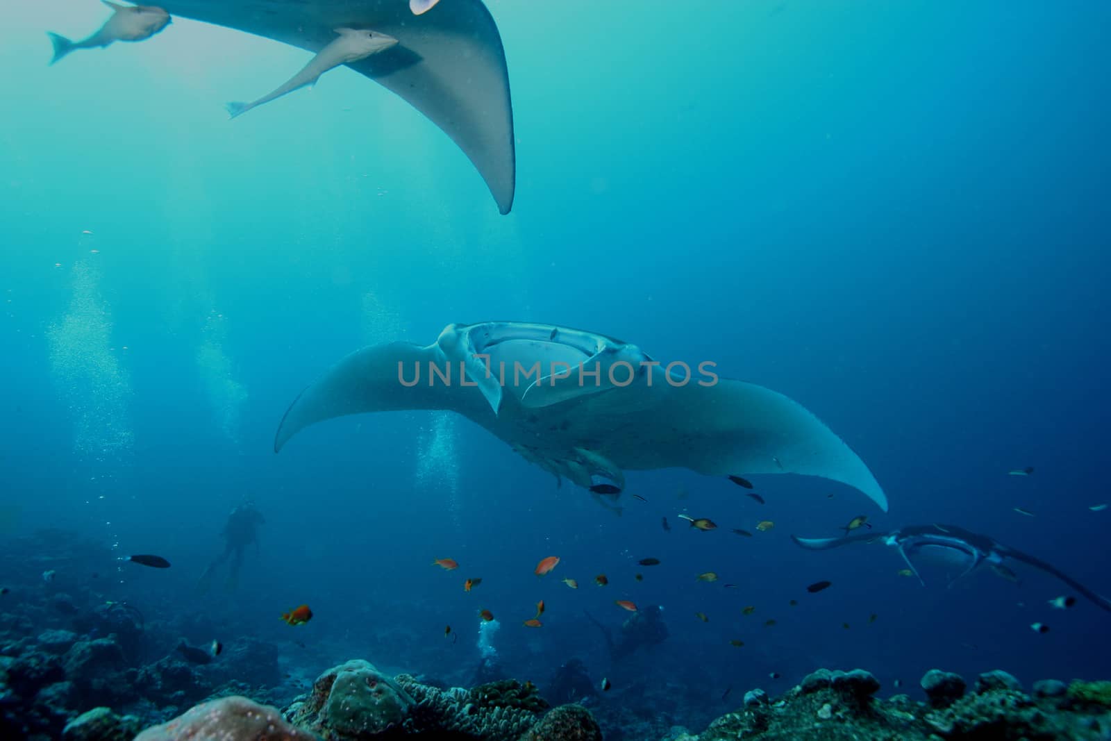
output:
[[907,568],[918,577],[919,582],[923,587],[925,585],[925,581],[914,565],[915,559],[919,558],[941,558],[950,562],[955,561],[964,567],[963,571],[950,580],[950,585],[972,573],[984,563],[1004,579],[1014,581],[1014,573],[1005,564],[1005,561],[1010,559],[1032,565],[1035,569],[1041,569],[1045,573],[1057,577],[1083,594],[1092,604],[1111,612],[1111,601],[1100,597],[1052,564],[1029,553],[1024,553],[1017,548],[1004,545],[994,538],[970,532],[952,524],[909,525],[888,533],[869,533],[844,538],[799,538],[798,535],[791,535],[791,540],[802,548],[812,551],[824,551],[850,543],[881,542],[899,551],[899,554],[907,563]]

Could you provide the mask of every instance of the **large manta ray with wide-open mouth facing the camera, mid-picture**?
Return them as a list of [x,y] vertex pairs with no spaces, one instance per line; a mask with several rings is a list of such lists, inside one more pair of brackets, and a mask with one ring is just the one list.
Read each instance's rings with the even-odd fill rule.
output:
[[625,469],[801,473],[888,509],[863,461],[802,405],[702,370],[683,382],[685,371],[669,372],[634,344],[564,327],[449,324],[428,347],[392,342],[339,361],[290,405],[274,450],[333,417],[441,409],[595,492],[620,492]]

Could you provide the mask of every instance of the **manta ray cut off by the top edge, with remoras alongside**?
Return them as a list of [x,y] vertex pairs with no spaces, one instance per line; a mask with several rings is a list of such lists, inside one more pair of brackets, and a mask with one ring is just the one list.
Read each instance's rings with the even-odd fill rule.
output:
[[440,127],[478,168],[498,203],[513,206],[513,111],[501,36],[482,0],[441,2],[420,16],[409,0],[159,0],[172,16],[320,51],[337,28],[399,43],[350,64]]

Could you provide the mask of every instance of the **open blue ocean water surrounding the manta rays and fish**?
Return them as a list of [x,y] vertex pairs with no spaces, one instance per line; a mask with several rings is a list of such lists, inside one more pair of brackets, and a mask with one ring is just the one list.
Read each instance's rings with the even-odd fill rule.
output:
[[[669,712],[692,728],[732,707],[727,688],[822,665],[912,691],[933,667],[1105,677],[1107,614],[1050,610],[1068,590],[1044,574],[923,589],[890,550],[788,535],[861,513],[877,530],[950,522],[1111,592],[1111,510],[1089,509],[1111,500],[1111,7],[487,4],[513,96],[506,217],[442,132],[349,70],[227,120],[223,101],[274,87],[301,50],[177,19],[48,67],[43,32],[79,36],[103,8],[4,10],[0,535],[61,528],[173,567],[69,565],[0,599],[127,600],[188,618],[194,641],[271,641],[298,677],[367,658],[456,683],[486,608],[507,674],[543,688],[578,657],[627,701],[682,684]],[[490,319],[595,330],[785,393],[861,455],[890,512],[815,479],[752,477],[760,505],[662,470],[631,472],[615,517],[444,413],[344,418],[272,452],[289,403],[342,356]],[[238,589],[199,595],[244,498],[266,517],[259,552]],[[0,581],[49,564],[24,555]],[[464,593],[466,577],[483,582]],[[543,629],[521,627],[541,599]],[[614,599],[662,605],[668,640],[611,663],[584,611],[617,630]],[[301,603],[309,624],[277,619]]]

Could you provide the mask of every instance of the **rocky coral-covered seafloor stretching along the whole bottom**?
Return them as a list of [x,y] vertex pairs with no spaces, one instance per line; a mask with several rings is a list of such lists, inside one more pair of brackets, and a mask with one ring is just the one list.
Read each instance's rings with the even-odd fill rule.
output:
[[[278,647],[249,637],[227,641],[218,661],[190,660],[179,649],[188,625],[148,622],[132,605],[98,600],[92,588],[30,599],[44,593],[32,591],[39,567],[103,558],[71,533],[39,533],[2,550],[4,562],[18,564],[0,594],[4,740],[1111,739],[1111,682],[1023,688],[1003,671],[967,684],[932,670],[918,702],[880,698],[867,671],[819,669],[780,697],[739,693],[739,707],[701,732],[662,710],[670,707],[664,695],[681,688],[661,683],[659,702],[647,703],[612,688],[600,701],[600,688],[573,660],[539,687],[502,679],[449,688],[383,673],[373,657],[308,668],[316,679],[304,681],[281,665]],[[42,552],[52,553],[49,563],[16,558]]]

